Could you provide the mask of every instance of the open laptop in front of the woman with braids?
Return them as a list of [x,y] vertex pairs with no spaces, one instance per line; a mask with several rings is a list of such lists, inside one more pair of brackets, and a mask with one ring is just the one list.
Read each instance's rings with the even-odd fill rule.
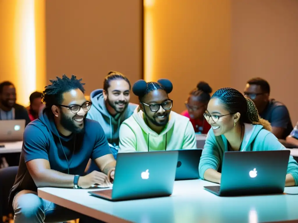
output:
[[220,186],[204,186],[218,196],[279,194],[285,188],[290,150],[225,152]]

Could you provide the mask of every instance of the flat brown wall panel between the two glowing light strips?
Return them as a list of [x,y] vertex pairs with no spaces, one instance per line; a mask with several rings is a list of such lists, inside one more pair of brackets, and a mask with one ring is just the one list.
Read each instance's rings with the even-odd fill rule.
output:
[[75,74],[89,95],[109,70],[134,83],[142,69],[142,1],[46,1],[47,81]]

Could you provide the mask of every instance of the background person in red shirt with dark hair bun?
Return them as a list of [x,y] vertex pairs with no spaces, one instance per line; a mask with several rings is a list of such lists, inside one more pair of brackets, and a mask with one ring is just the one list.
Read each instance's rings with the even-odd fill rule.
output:
[[207,109],[211,92],[212,88],[209,84],[201,81],[198,83],[197,87],[189,93],[185,102],[187,110],[183,111],[181,115],[190,119],[195,133],[207,134],[211,128],[204,118],[204,112]]

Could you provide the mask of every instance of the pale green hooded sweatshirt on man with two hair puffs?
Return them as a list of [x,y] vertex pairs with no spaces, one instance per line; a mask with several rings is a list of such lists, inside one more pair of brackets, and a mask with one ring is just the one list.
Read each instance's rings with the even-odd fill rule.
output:
[[121,124],[119,135],[119,153],[196,149],[195,131],[189,118],[173,111],[167,125],[157,134],[145,123],[144,113],[136,109]]

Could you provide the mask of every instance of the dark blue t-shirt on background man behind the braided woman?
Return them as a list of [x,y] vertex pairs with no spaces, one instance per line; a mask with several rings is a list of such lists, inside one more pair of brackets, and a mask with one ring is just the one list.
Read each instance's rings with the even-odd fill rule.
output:
[[272,127],[285,129],[281,139],[285,139],[293,130],[287,107],[274,99],[268,102],[266,109],[260,114],[260,117],[270,122]]

